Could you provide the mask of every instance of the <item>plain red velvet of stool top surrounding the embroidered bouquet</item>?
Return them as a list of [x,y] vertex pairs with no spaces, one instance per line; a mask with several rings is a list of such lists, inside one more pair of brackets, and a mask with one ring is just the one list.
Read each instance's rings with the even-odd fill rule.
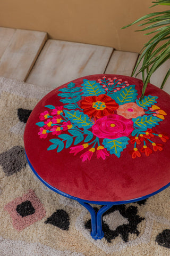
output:
[[[130,85],[135,84],[135,89],[138,90],[137,98],[140,98],[142,81],[132,77],[101,74],[78,78],[72,82],[79,87],[83,84],[83,79],[98,81],[103,76],[112,79],[116,76],[117,79],[128,81]],[[36,123],[41,122],[40,114],[48,110],[46,105],[64,106],[64,103],[60,101],[62,98],[57,96],[58,93],[61,93],[58,89],[66,87],[69,83],[58,87],[41,99],[33,109],[25,127],[25,151],[40,177],[49,185],[66,194],[89,201],[126,201],[149,195],[166,186],[170,182],[170,141],[167,140],[164,143],[158,136],[155,137],[155,142],[164,145],[163,150],[154,151],[153,146],[151,146],[152,154],[147,156],[145,149],[143,149],[143,153],[140,151],[141,157],[135,158],[132,158],[134,144],[130,140],[121,152],[121,157],[109,154],[106,159],[97,158],[95,152],[90,160],[84,162],[80,158],[84,151],[74,156],[70,153],[70,148],[64,147],[59,153],[57,153],[57,149],[47,150],[52,145],[49,140],[58,137],[49,133],[48,138],[40,139],[38,135],[40,127]],[[157,134],[166,133],[169,136],[170,96],[151,84],[147,87],[145,95],[157,96],[155,105],[167,113],[165,119],[152,130]],[[80,102],[78,105],[80,106]],[[114,110],[114,114],[116,114],[116,110]],[[92,131],[91,128],[89,130]],[[65,133],[70,134],[68,131]],[[77,146],[83,143],[85,142],[82,141]]]

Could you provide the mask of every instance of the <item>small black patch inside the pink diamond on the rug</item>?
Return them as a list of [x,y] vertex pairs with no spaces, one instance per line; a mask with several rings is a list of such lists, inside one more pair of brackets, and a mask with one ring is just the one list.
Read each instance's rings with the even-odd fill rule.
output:
[[35,209],[31,202],[27,200],[16,206],[16,212],[18,212],[21,217],[26,217],[35,213]]

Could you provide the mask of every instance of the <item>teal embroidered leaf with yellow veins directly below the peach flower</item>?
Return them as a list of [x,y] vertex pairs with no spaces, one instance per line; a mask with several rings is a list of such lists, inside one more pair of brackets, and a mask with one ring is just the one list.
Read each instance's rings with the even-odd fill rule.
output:
[[162,119],[158,118],[157,116],[138,116],[137,118],[132,118],[133,125],[138,128],[152,128],[159,124]]

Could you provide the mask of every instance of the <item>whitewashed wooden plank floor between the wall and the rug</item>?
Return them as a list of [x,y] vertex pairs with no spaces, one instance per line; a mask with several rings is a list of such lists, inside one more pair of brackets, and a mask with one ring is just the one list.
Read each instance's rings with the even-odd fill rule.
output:
[[[138,53],[112,47],[53,40],[45,32],[0,27],[0,76],[49,91],[91,74],[131,76],[138,58]],[[151,83],[160,87],[169,66],[167,60],[151,77]],[[169,83],[170,77],[164,86],[170,94]]]

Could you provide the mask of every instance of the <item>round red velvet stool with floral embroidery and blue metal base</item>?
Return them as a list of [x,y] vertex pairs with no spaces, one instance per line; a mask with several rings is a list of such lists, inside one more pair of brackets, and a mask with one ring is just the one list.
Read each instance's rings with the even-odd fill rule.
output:
[[[121,75],[91,75],[49,92],[24,131],[28,163],[48,188],[77,200],[101,239],[102,215],[170,185],[170,96]],[[103,205],[97,212],[90,204]]]

